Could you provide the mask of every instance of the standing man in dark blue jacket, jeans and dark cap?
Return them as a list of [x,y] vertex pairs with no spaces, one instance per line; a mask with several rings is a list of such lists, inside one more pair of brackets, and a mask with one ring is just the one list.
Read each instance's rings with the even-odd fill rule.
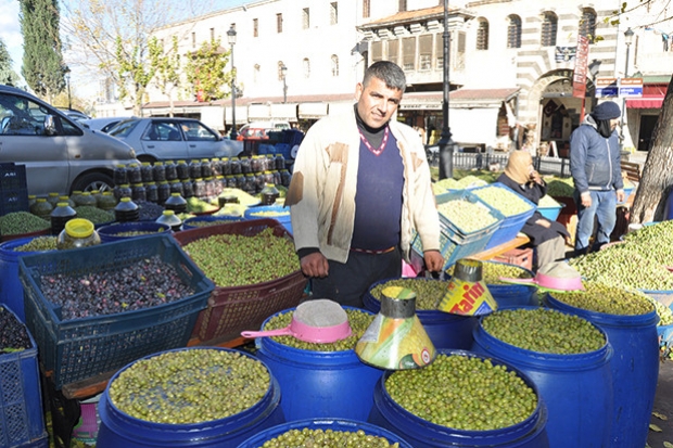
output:
[[621,111],[612,101],[597,105],[570,136],[570,172],[575,183],[577,231],[575,253],[589,248],[594,219],[598,231],[593,249],[610,242],[617,221],[617,202],[624,201],[617,125]]

